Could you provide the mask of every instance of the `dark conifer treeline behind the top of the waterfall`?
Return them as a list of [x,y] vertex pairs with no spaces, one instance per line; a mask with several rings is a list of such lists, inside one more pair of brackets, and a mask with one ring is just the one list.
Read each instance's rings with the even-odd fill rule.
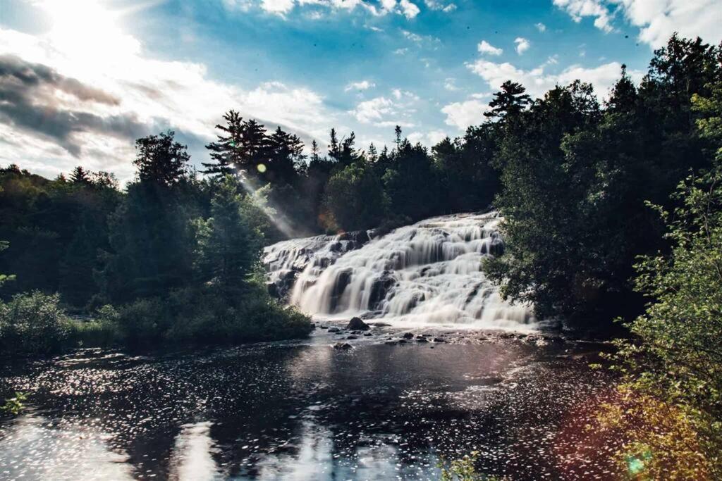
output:
[[[497,190],[490,159],[494,131],[470,128],[432,151],[412,144],[396,127],[392,148],[357,149],[355,134],[331,129],[329,149],[316,141],[304,153],[300,138],[273,133],[238,112],[224,115],[209,144],[206,175],[242,175],[252,190],[268,185],[268,200],[296,234],[401,225],[440,213],[486,208]],[[288,234],[288,232],[286,233]],[[282,234],[278,234],[282,235]]]

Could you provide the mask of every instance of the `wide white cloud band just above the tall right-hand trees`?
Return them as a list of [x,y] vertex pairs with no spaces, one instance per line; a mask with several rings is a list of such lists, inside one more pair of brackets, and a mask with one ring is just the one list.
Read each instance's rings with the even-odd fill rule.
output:
[[[533,97],[541,97],[547,90],[557,85],[570,84],[576,79],[592,84],[597,95],[604,97],[619,79],[622,71],[621,63],[611,62],[592,69],[573,65],[559,74],[547,74],[544,72],[543,65],[536,69],[522,70],[508,62],[494,63],[484,58],[466,63],[466,67],[487,81],[490,89],[494,91],[497,91],[505,81],[511,80],[526,87],[527,92]],[[631,70],[627,73],[634,81],[640,81],[643,76],[641,71]]]

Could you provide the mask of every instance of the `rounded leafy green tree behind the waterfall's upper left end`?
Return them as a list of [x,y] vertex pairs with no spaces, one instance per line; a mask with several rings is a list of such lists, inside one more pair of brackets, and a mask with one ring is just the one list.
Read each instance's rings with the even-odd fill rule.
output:
[[378,226],[388,199],[370,165],[355,162],[337,172],[326,185],[326,208],[341,229],[355,231]]

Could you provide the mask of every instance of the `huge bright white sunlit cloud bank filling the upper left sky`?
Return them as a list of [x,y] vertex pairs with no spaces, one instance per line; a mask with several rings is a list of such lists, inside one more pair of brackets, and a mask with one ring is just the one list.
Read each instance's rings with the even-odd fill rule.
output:
[[[229,108],[270,127],[283,125],[306,138],[313,129],[333,122],[334,113],[323,98],[305,87],[270,82],[243,88],[211,79],[202,63],[148,56],[139,40],[118,27],[117,15],[100,4],[48,2],[40,8],[52,20],[50,30],[32,36],[0,29],[4,54],[117,101],[93,102],[76,92],[69,103],[59,90],[36,98],[36,107],[66,120],[62,135],[0,114],[0,162],[22,161],[44,175],[84,164],[113,170],[127,180],[133,172],[134,136],[173,128],[181,140],[195,141],[202,149],[204,142],[214,138],[214,125]],[[126,131],[108,128],[120,121],[129,126]],[[23,144],[34,148],[25,149]]]

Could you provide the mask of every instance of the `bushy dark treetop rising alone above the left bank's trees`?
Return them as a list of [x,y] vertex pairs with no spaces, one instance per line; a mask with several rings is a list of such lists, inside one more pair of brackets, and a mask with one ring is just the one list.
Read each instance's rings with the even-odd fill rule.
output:
[[175,132],[168,131],[158,136],[147,136],[136,141],[136,159],[141,182],[152,182],[162,187],[177,184],[187,175],[191,156],[186,146],[174,140]]

